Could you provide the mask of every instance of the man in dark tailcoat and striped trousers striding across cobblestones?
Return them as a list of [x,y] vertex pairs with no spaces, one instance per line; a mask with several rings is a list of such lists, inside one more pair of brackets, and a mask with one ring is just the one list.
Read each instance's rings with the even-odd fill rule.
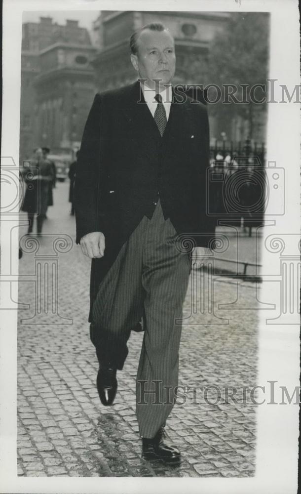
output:
[[162,24],[135,32],[130,48],[139,80],[96,94],[83,132],[76,243],[92,259],[89,321],[100,400],[113,403],[116,371],[143,317],[136,380],[142,449],[178,463],[164,426],[176,400],[188,246],[194,258],[204,257],[214,239],[206,215],[208,118],[202,104],[177,99],[174,40]]

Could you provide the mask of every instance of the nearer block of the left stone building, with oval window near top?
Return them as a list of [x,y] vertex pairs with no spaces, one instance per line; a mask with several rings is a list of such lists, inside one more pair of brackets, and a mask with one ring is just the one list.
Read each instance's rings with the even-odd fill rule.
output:
[[91,46],[58,42],[39,54],[34,139],[54,153],[68,154],[80,145],[95,94],[92,53]]

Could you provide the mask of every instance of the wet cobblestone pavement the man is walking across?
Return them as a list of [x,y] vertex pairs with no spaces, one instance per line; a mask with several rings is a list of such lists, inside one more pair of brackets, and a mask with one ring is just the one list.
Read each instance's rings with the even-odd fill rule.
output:
[[[52,233],[68,234],[74,239],[75,220],[69,215],[68,183],[59,183],[54,192],[55,206],[48,209],[39,251],[24,252],[20,260],[19,302],[31,305],[19,310],[18,474],[254,475],[256,406],[248,398],[243,399],[242,390],[247,392],[256,384],[255,286],[214,277],[214,313],[210,313],[206,301],[200,305],[199,297],[192,297],[196,287],[201,288],[206,281],[206,277],[200,273],[195,276],[193,272],[184,306],[179,400],[166,427],[181,449],[182,462],[168,467],[160,461],[146,461],[141,457],[135,416],[135,376],[143,333],[132,332],[123,371],[117,372],[114,405],[103,407],[96,389],[98,365],[87,323],[90,261],[70,239],[67,247],[61,243],[61,250],[66,252],[58,256],[58,311],[61,318],[67,319],[56,319],[55,306],[48,313],[42,304],[35,306],[38,256],[45,262],[53,252]],[[25,227],[20,228],[20,237],[25,232]],[[42,254],[46,257],[42,258]],[[56,260],[51,262],[54,276]],[[219,308],[221,303],[232,305]],[[73,324],[66,324],[72,322],[68,318],[73,319]],[[194,391],[189,391],[188,386]],[[238,388],[236,400],[228,403],[227,386]]]

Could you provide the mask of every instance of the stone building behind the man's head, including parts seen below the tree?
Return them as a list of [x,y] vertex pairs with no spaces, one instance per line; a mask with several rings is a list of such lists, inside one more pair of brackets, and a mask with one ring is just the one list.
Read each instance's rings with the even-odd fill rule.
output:
[[[134,30],[150,22],[161,22],[175,39],[177,68],[174,83],[203,84],[210,80],[208,54],[210,44],[219,32],[227,29],[230,12],[179,11],[102,11],[93,23],[93,37],[98,52],[91,62],[95,68],[99,91],[121,87],[137,79],[129,61],[129,38]],[[211,143],[244,141],[249,134],[248,123],[239,115],[229,116],[225,107],[213,115],[208,104]],[[261,142],[265,128],[265,112],[259,106],[254,115],[254,138]]]

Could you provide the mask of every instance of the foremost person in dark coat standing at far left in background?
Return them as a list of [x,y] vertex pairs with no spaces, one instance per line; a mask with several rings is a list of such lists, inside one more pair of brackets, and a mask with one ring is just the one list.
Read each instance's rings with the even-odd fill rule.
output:
[[38,148],[25,176],[27,187],[22,211],[28,214],[28,234],[33,231],[35,215],[37,216],[37,233],[41,234],[48,206],[49,183],[53,183],[53,180],[53,167],[43,157],[41,148]]

